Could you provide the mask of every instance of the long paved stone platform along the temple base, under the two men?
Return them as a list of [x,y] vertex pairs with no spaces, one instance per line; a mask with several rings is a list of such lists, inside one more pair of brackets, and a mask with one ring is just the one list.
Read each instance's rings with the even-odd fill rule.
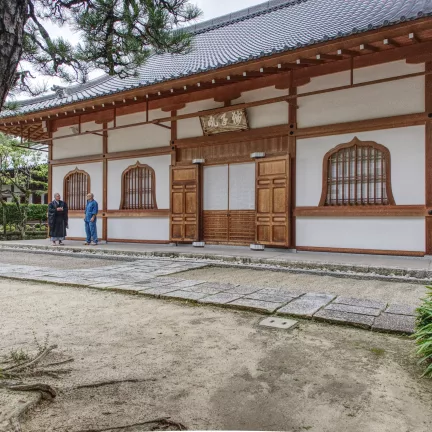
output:
[[324,252],[292,252],[284,249],[252,251],[247,247],[190,245],[151,245],[137,243],[109,243],[97,247],[84,246],[82,242],[67,241],[63,247],[52,247],[48,240],[0,242],[1,249],[31,249],[62,251],[63,253],[91,253],[132,257],[192,258],[233,265],[259,268],[284,268],[292,271],[315,272],[338,276],[361,275],[370,278],[410,280],[432,283],[432,257],[401,257],[388,255],[336,254]]

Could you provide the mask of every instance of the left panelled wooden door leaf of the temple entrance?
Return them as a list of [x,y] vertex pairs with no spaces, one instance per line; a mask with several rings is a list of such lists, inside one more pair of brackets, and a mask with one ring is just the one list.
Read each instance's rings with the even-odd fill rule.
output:
[[199,166],[171,167],[170,239],[199,240]]

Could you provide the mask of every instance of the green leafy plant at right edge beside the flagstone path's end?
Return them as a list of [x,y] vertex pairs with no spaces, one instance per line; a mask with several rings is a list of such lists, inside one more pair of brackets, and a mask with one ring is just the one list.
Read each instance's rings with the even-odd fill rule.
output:
[[426,367],[423,376],[432,378],[432,286],[427,288],[428,293],[417,309],[414,338],[418,346],[417,354],[421,356],[419,363]]

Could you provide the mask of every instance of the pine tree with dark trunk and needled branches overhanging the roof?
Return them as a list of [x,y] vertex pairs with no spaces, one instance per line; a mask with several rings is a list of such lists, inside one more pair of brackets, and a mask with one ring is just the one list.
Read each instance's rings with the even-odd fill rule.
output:
[[[31,84],[26,62],[67,82],[97,69],[131,76],[152,52],[187,52],[191,37],[179,29],[199,15],[189,0],[0,0],[0,110],[11,90],[47,90]],[[80,43],[51,37],[49,22],[79,32]]]

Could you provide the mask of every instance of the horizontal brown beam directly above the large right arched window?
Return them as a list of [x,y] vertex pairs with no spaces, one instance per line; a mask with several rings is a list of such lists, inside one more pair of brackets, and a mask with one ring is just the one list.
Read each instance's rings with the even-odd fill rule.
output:
[[323,126],[298,128],[295,135],[299,139],[315,138],[329,135],[342,135],[351,132],[374,131],[381,129],[394,129],[408,126],[424,125],[428,120],[427,113],[404,114],[391,117],[382,117],[371,120],[358,120],[346,123],[335,123]]

